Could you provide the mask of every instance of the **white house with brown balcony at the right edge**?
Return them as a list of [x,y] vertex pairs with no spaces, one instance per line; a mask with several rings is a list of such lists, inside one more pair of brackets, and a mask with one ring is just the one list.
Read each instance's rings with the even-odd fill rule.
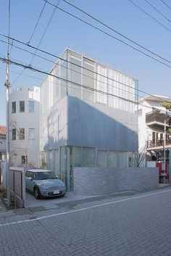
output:
[[[164,120],[166,120],[166,131],[170,127],[170,113],[161,103],[171,102],[168,96],[151,95],[139,100],[138,110],[138,136],[139,151],[145,149],[146,157],[141,166],[146,166],[146,161],[163,160],[164,157]],[[171,134],[166,133],[166,159],[169,157],[171,147]]]

